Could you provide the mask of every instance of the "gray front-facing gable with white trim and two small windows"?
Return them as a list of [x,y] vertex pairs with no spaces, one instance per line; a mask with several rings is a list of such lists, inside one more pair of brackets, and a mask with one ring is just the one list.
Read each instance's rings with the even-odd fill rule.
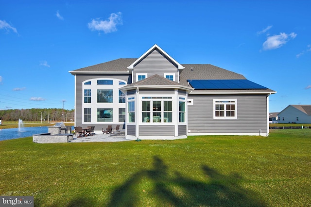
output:
[[179,74],[184,69],[181,64],[157,45],[146,51],[127,68],[132,73],[133,83],[155,74],[179,82]]

